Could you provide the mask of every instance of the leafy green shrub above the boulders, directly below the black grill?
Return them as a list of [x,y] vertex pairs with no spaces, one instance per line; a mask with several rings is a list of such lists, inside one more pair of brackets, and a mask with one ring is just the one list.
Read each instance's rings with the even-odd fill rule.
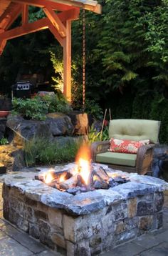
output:
[[11,114],[26,117],[26,119],[46,119],[48,113],[48,103],[41,101],[40,97],[33,99],[16,99],[12,100],[13,110]]

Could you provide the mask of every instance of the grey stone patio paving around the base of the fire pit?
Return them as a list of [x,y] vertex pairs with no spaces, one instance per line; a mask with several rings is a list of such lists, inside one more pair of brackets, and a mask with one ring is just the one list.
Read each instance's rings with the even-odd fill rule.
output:
[[[61,256],[48,250],[37,240],[6,222],[2,211],[0,177],[0,256]],[[168,191],[164,200],[164,224],[161,230],[120,245],[103,256],[167,256],[168,255]],[[79,255],[80,256],[80,255]]]

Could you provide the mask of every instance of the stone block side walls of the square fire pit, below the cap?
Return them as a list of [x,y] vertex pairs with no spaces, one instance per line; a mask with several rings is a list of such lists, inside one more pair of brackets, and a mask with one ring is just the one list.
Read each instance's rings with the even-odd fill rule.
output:
[[162,227],[163,192],[113,202],[90,215],[70,216],[4,184],[4,217],[67,256],[99,255]]

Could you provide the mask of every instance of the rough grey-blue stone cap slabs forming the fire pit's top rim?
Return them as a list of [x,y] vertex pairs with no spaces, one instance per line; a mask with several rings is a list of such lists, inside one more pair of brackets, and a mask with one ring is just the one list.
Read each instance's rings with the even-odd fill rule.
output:
[[[67,164],[62,167],[56,166],[55,169],[68,171],[74,166],[75,164]],[[114,202],[168,189],[168,183],[162,179],[116,171],[104,164],[100,164],[100,166],[105,168],[106,172],[130,179],[130,182],[119,184],[117,187],[111,187],[110,189],[96,189],[79,195],[71,195],[36,180],[36,174],[47,172],[49,169],[39,168],[38,171],[40,172],[15,172],[14,174],[4,175],[4,183],[9,187],[18,188],[22,194],[31,200],[42,202],[49,207],[65,210],[71,215],[88,215],[91,212],[103,209],[107,205],[112,205]]]

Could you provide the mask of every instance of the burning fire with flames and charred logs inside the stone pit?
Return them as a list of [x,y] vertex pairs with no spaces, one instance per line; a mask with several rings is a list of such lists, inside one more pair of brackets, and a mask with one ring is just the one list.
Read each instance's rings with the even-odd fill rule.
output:
[[39,174],[38,179],[51,187],[78,195],[81,192],[109,189],[129,182],[127,176],[124,176],[118,172],[110,172],[100,164],[92,164],[90,147],[85,144],[78,151],[75,167],[61,170],[49,169],[48,172]]

